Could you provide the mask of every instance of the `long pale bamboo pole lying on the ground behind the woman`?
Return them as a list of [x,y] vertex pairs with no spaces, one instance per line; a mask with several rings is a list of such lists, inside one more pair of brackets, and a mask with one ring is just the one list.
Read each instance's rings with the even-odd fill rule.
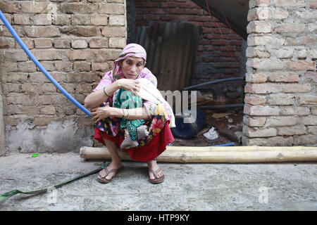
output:
[[[267,147],[267,146],[228,146],[228,147],[188,147],[170,148],[157,158],[158,162],[303,162],[317,161],[317,147]],[[208,149],[209,148],[209,149]],[[131,160],[125,151],[118,151],[122,160]],[[107,148],[80,148],[80,158],[111,159]]]

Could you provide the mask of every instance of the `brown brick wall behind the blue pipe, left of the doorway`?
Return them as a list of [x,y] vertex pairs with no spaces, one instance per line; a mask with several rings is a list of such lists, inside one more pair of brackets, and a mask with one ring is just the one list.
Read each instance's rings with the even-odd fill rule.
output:
[[[40,63],[83,104],[126,39],[124,0],[0,1],[1,11]],[[91,146],[91,119],[56,90],[1,22],[6,150]]]

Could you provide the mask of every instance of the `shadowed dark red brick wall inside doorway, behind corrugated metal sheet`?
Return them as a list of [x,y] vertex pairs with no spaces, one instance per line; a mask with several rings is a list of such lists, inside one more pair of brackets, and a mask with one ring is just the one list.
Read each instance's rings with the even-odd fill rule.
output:
[[[207,11],[190,0],[135,0],[136,26],[186,20],[202,27],[193,84],[224,77],[244,76],[244,49],[242,38],[228,25],[210,17]],[[220,37],[218,26],[223,32]],[[232,52],[232,58],[225,43]],[[239,60],[242,62],[240,63]],[[238,94],[240,96],[240,94]]]

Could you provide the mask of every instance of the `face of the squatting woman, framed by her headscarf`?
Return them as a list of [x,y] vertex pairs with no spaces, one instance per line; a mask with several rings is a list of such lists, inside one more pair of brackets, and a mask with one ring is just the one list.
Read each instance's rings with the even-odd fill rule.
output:
[[143,58],[129,57],[119,63],[123,75],[127,79],[136,79],[144,68],[146,62]]

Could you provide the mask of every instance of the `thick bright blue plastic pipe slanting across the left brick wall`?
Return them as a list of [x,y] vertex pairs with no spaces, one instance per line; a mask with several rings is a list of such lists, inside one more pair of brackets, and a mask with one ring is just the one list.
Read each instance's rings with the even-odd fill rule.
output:
[[39,70],[41,70],[43,72],[43,74],[47,77],[47,79],[49,79],[49,81],[51,81],[58,88],[58,90],[60,90],[61,93],[63,93],[64,96],[66,96],[66,98],[68,98],[72,103],[74,103],[78,108],[80,108],[80,110],[82,110],[84,113],[89,115],[89,117],[92,117],[92,115],[90,115],[90,111],[87,110],[87,108],[85,108],[82,104],[80,104],[75,98],[73,98],[73,96],[70,96],[70,94],[68,94],[68,92],[65,89],[63,89],[63,87],[60,84],[58,84],[58,82],[56,82],[56,80],[49,74],[49,72],[47,72],[45,70],[45,68],[42,66],[41,63],[39,63],[37,58],[35,58],[35,56],[33,56],[31,51],[29,49],[27,49],[27,46],[25,46],[24,42],[20,39],[20,37],[15,32],[15,30],[13,29],[11,24],[8,23],[8,20],[6,20],[6,17],[4,16],[4,14],[2,13],[1,10],[0,10],[0,18],[1,18],[2,22],[4,22],[4,25],[6,25],[8,30],[11,32],[14,39],[16,41],[18,41],[18,44],[20,44],[21,48],[25,51],[25,53],[27,53],[27,56],[29,56],[31,58],[33,63],[35,63],[35,65],[37,65]]

